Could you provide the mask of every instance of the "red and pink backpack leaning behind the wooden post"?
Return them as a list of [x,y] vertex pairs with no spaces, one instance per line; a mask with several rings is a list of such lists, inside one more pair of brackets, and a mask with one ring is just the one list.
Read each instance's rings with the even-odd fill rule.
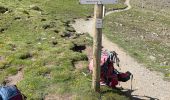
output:
[[[116,87],[119,82],[127,82],[132,74],[127,71],[125,73],[119,72],[115,69],[114,64],[119,67],[119,58],[117,57],[117,53],[115,51],[102,51],[101,54],[101,72],[100,72],[100,84],[106,84],[109,87]],[[90,72],[93,71],[93,60],[90,61],[89,64]]]

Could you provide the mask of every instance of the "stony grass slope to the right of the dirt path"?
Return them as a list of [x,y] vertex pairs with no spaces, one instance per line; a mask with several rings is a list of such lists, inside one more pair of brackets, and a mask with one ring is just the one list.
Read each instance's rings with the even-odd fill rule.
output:
[[[170,76],[170,7],[153,0],[132,0],[132,9],[106,17],[104,32],[150,69]],[[168,2],[168,0],[164,0]],[[158,6],[154,6],[154,5]],[[166,3],[165,3],[166,4]],[[161,9],[160,9],[161,8]],[[163,13],[163,11],[167,11]]]

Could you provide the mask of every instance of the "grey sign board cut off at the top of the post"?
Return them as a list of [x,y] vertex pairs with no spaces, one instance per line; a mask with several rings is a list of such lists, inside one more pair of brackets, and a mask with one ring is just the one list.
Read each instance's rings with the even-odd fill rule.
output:
[[118,0],[79,0],[80,4],[115,4]]

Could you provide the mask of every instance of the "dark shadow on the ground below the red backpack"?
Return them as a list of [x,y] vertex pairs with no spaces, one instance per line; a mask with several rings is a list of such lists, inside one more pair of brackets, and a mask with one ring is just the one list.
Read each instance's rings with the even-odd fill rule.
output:
[[118,93],[119,95],[124,95],[128,97],[130,100],[144,100],[142,98],[145,98],[147,100],[159,100],[157,98],[149,97],[149,96],[139,96],[139,95],[132,95],[132,93],[136,90],[131,89],[122,89],[122,88],[114,88],[112,90],[106,90],[102,91],[101,95],[107,94],[107,93]]

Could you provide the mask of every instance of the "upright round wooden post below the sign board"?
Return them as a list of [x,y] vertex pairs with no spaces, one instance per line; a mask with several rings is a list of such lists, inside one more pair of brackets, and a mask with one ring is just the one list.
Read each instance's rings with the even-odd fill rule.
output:
[[102,20],[103,4],[96,4],[94,8],[94,38],[93,38],[93,76],[92,88],[100,92],[100,60],[101,60],[101,43],[102,28],[97,27],[98,20]]

